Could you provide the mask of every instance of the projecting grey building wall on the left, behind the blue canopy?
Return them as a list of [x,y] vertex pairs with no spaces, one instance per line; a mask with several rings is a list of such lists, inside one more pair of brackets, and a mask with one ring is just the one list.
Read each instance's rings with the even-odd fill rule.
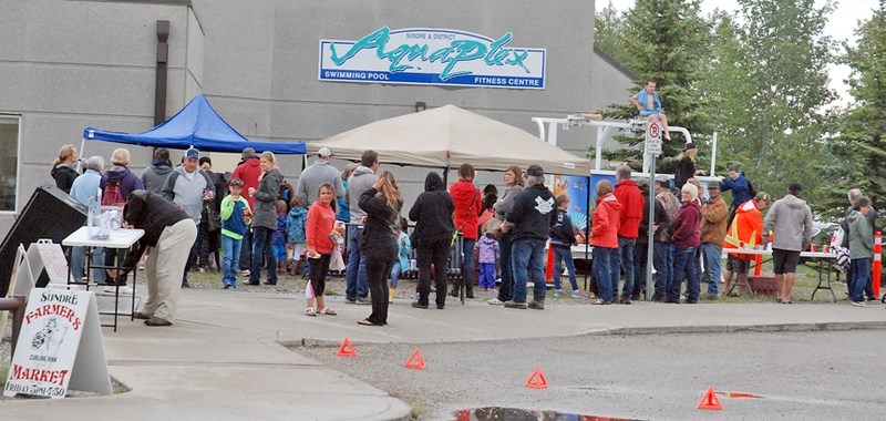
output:
[[[2,8],[0,113],[21,116],[17,209],[34,188],[54,183],[49,171],[59,148],[80,148],[85,127],[153,126],[157,20],[172,27],[167,110],[202,90],[203,35],[186,6],[8,0]],[[107,161],[116,147],[90,142],[81,155]],[[151,151],[130,151],[134,167],[150,162]],[[0,233],[13,219],[0,213]]]

